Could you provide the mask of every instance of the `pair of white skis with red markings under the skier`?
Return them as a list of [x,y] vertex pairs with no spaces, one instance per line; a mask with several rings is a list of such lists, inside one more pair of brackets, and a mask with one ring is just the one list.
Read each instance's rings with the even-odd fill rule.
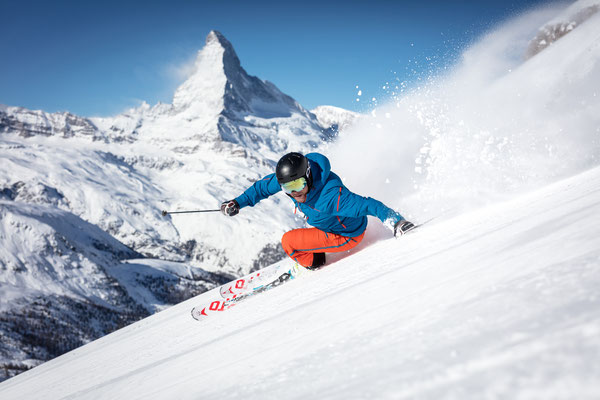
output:
[[[249,297],[266,292],[267,290],[276,288],[277,286],[280,286],[289,280],[295,279],[302,275],[304,271],[308,270],[296,264],[293,267],[281,272],[279,275],[277,275],[278,271],[281,272],[280,266],[273,268],[273,271],[267,271],[265,274],[250,274],[247,277],[240,278],[237,281],[223,285],[225,289],[223,289],[223,287],[219,289],[221,296],[223,296],[224,293],[230,293],[231,295],[221,299],[215,299],[207,302],[204,305],[192,308],[192,318],[197,321],[202,321],[216,312],[222,312],[230,309]],[[275,279],[267,281],[267,276],[272,277],[274,275],[277,275]],[[259,276],[261,277],[260,280],[258,279]],[[259,283],[259,281],[262,283]]]

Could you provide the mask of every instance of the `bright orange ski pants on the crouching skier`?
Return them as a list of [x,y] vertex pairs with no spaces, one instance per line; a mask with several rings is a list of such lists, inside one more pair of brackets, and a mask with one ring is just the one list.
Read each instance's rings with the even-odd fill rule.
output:
[[313,253],[337,253],[350,250],[359,244],[365,232],[357,237],[336,235],[317,228],[294,229],[283,234],[281,246],[298,264],[310,267]]

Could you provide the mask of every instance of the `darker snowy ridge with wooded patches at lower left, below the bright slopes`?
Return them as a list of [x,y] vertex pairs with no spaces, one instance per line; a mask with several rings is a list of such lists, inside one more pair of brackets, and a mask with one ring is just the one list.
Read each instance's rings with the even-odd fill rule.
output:
[[136,260],[139,253],[52,204],[0,200],[0,238],[4,378],[227,280]]

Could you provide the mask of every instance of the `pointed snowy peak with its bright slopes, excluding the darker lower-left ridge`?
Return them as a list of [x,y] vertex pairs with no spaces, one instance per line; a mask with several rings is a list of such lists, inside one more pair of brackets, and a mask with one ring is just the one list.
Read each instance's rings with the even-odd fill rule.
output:
[[[45,185],[61,193],[64,209],[146,256],[240,272],[278,242],[293,216],[267,207],[244,221],[165,220],[159,211],[215,208],[272,172],[282,153],[322,146],[330,130],[273,84],[249,76],[213,31],[173,104],[143,104],[113,118],[3,106],[0,132],[0,187]],[[222,233],[233,230],[251,240],[225,240]]]

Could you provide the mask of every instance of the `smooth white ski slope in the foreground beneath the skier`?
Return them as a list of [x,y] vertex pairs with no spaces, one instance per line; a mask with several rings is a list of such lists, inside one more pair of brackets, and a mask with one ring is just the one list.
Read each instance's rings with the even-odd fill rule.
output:
[[2,399],[600,395],[600,168],[371,245],[200,323],[155,314]]

